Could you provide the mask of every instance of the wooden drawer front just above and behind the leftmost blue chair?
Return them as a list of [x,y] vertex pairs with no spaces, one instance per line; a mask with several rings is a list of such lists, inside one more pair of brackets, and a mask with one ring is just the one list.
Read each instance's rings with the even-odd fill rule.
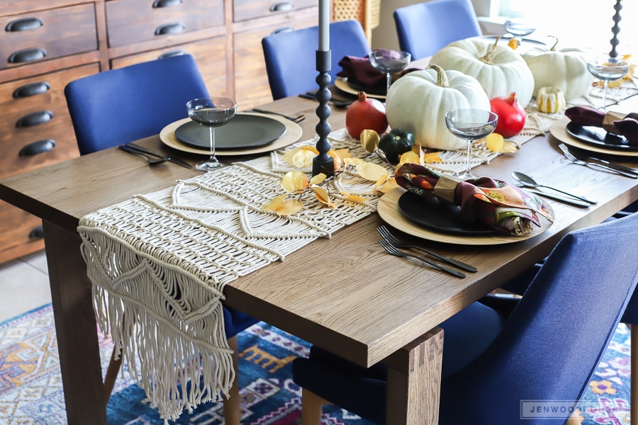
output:
[[[206,82],[206,88],[211,96],[228,96],[228,79],[226,63],[226,40],[223,37],[210,38],[191,42],[184,45],[175,45],[166,49],[152,50],[150,52],[140,53],[138,55],[130,55],[118,57],[111,60],[111,67],[121,68],[128,65],[138,64],[156,60],[163,55],[181,55],[188,53],[192,55],[201,72],[201,76]],[[184,107],[184,113],[186,113]]]

